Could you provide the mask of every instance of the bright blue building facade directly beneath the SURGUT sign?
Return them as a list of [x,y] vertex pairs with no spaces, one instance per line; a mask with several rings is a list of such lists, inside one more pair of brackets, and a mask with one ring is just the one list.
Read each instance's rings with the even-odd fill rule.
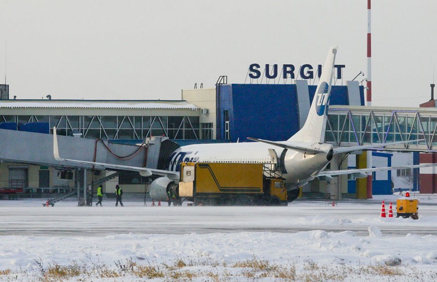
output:
[[[306,83],[305,83],[306,84]],[[245,141],[247,137],[286,140],[300,129],[306,118],[315,85],[299,91],[297,84],[222,84],[216,87],[217,139]],[[352,92],[359,96],[351,99]],[[306,96],[306,97],[305,97]],[[305,101],[309,101],[306,103]],[[330,105],[364,106],[364,88],[356,84],[332,86]]]

